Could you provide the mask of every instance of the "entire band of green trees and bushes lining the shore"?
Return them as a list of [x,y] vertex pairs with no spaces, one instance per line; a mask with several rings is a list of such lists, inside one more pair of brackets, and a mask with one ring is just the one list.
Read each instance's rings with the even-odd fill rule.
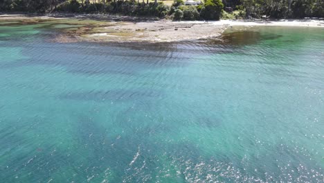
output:
[[[192,5],[192,6],[185,6]],[[102,13],[172,20],[324,17],[323,0],[4,0],[0,12]]]

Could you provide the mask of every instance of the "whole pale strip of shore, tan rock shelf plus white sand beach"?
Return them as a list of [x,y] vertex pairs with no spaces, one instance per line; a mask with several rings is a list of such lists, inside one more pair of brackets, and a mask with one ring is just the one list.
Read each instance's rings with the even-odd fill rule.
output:
[[170,21],[119,15],[0,15],[0,21],[21,21],[37,24],[78,25],[66,28],[55,37],[55,42],[179,42],[184,40],[217,39],[228,28],[253,26],[287,26],[324,28],[322,19],[279,20],[220,20],[220,21]]

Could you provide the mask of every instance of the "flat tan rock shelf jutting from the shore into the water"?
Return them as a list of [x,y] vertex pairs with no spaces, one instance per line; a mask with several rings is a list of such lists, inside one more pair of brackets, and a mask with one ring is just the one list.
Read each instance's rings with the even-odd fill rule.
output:
[[226,27],[195,22],[177,24],[171,21],[123,22],[123,24],[94,29],[92,33],[84,32],[80,35],[80,39],[98,42],[177,42],[219,37]]

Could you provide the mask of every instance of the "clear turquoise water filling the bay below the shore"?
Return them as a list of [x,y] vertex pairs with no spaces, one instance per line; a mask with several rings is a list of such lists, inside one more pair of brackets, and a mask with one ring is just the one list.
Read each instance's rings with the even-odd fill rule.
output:
[[0,26],[1,182],[324,182],[324,29],[51,42]]

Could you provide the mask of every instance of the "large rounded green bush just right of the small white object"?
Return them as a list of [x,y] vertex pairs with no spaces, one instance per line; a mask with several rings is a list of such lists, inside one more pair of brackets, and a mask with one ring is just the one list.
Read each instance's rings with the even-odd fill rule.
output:
[[204,8],[201,9],[200,17],[210,20],[219,20],[224,5],[222,0],[206,0]]

